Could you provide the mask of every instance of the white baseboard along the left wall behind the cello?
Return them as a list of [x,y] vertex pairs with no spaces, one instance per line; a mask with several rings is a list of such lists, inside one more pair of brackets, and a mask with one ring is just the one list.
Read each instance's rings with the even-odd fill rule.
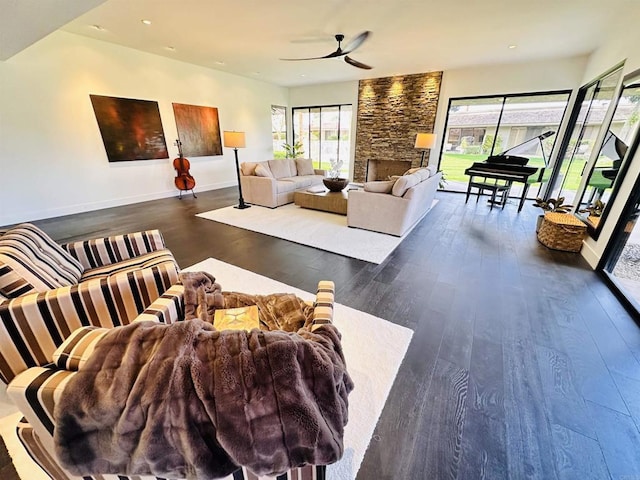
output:
[[[198,185],[195,189],[198,192],[208,190],[219,190],[221,188],[233,187],[236,182],[220,182],[209,185]],[[103,208],[120,207],[122,205],[131,205],[134,203],[148,202],[151,200],[159,200],[162,198],[177,197],[180,195],[178,190],[165,190],[162,192],[146,193],[142,195],[132,195],[128,197],[119,197],[99,202],[78,203],[63,207],[48,208],[43,210],[33,210],[30,212],[16,212],[0,217],[0,225],[13,225],[20,222],[31,222],[34,220],[43,220],[45,218],[61,217],[63,215],[73,215],[75,213],[92,212],[94,210],[102,210]],[[184,194],[183,194],[184,196]]]

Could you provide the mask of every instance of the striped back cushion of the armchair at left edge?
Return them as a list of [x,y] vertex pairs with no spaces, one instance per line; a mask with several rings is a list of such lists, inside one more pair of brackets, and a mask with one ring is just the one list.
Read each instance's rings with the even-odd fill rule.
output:
[[35,225],[17,225],[0,237],[0,293],[9,298],[75,285],[83,271]]

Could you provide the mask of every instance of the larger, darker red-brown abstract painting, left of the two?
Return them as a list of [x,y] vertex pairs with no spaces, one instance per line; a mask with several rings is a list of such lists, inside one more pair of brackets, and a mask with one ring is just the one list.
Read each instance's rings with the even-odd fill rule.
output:
[[89,96],[110,162],[169,158],[158,102]]

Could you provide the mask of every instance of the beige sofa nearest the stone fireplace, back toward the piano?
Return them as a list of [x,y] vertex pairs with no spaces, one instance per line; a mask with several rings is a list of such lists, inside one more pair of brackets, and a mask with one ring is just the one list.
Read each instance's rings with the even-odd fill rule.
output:
[[349,191],[347,224],[401,237],[431,208],[442,172],[411,169],[388,181],[367,182]]

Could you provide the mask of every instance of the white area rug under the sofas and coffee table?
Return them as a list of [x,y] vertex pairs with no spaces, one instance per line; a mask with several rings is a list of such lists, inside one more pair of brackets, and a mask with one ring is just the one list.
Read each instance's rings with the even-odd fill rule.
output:
[[[431,208],[436,203],[434,200]],[[225,207],[197,216],[377,264],[382,263],[413,229],[411,227],[403,237],[394,237],[349,228],[344,215],[300,208],[292,203],[278,208],[252,205],[246,210]]]

